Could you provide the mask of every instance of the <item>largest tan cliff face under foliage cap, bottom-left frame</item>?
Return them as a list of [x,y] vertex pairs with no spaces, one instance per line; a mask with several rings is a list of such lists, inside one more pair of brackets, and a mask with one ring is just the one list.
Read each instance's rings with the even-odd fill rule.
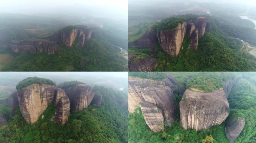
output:
[[18,91],[19,109],[27,123],[31,124],[39,119],[54,99],[54,85],[33,84]]

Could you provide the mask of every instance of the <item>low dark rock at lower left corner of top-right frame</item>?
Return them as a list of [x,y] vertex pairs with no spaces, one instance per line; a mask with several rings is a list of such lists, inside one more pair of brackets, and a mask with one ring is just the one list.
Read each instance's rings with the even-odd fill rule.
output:
[[128,62],[129,71],[153,71],[157,65],[155,58],[137,57],[137,55],[130,55]]

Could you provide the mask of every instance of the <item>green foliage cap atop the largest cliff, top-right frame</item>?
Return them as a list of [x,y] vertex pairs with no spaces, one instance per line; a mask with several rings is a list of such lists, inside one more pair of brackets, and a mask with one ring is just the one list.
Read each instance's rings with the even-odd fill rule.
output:
[[156,29],[157,31],[173,29],[173,28],[176,28],[179,25],[179,23],[182,23],[182,22],[185,22],[185,19],[175,18],[175,17],[167,18],[162,22],[160,22]]

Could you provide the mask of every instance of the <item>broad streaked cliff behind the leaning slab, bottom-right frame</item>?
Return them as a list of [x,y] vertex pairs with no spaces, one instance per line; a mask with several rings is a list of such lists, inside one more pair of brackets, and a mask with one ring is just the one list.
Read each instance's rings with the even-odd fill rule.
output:
[[173,100],[173,90],[167,86],[171,85],[170,80],[150,80],[129,76],[128,81],[129,112],[134,112],[140,102],[146,101],[162,110],[167,124],[175,121],[177,105]]

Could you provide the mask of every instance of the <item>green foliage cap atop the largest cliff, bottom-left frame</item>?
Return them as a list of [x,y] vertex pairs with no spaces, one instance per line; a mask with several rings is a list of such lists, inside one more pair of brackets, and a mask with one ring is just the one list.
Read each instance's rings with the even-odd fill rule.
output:
[[38,83],[39,85],[42,85],[42,84],[55,85],[55,83],[52,80],[39,78],[35,76],[35,77],[28,77],[26,79],[21,80],[16,86],[16,89],[22,89],[34,83]]

